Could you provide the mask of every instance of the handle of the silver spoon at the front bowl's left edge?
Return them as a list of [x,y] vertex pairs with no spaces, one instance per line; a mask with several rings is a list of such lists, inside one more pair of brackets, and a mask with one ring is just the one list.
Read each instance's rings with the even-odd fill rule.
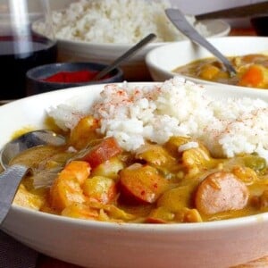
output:
[[29,168],[14,164],[0,174],[0,225],[8,214],[21,179]]

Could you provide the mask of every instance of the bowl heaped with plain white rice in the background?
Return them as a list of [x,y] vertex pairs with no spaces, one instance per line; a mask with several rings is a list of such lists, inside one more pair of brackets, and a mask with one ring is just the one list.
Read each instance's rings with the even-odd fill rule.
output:
[[[128,62],[122,63],[127,80],[148,80],[145,55],[166,42],[185,39],[164,14],[168,0],[79,0],[52,13],[54,35],[58,40],[59,61],[112,63],[149,33],[157,38]],[[188,21],[205,37],[228,35],[230,26],[224,21]],[[33,28],[44,32],[44,23]],[[50,34],[50,33],[49,33]]]

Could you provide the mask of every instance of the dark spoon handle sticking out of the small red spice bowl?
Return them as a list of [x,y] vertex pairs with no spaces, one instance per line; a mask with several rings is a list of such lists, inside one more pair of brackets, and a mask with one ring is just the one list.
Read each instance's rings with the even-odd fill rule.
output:
[[94,80],[100,80],[101,78],[103,78],[107,73],[112,71],[123,61],[126,61],[127,59],[129,59],[130,56],[136,54],[140,48],[142,48],[143,46],[146,46],[147,43],[151,42],[155,38],[156,38],[155,34],[151,33],[147,35],[147,37],[141,39],[135,46],[132,46],[126,53],[122,54],[118,59],[116,59],[113,63],[107,66],[104,70],[99,71],[96,74],[96,77],[94,78]]

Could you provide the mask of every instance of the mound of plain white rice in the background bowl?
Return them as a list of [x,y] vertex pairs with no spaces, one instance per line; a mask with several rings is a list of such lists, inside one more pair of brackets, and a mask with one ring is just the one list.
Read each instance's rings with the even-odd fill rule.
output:
[[[149,33],[155,41],[175,41],[185,38],[167,19],[164,9],[171,7],[168,0],[79,0],[63,11],[52,13],[56,38],[93,43],[134,44]],[[210,35],[205,25],[188,21],[203,36]],[[44,23],[34,29],[46,33]]]

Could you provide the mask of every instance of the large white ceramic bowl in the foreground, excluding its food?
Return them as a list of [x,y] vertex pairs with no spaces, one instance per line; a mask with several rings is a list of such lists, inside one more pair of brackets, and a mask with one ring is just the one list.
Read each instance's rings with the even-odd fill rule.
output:
[[[211,95],[241,91],[207,86]],[[44,128],[46,108],[67,100],[91,105],[103,85],[30,96],[0,107],[0,147],[15,130]],[[265,90],[243,91],[268,101]],[[140,224],[93,222],[45,214],[13,205],[1,229],[39,252],[97,268],[226,268],[268,254],[268,213],[220,222]]]

